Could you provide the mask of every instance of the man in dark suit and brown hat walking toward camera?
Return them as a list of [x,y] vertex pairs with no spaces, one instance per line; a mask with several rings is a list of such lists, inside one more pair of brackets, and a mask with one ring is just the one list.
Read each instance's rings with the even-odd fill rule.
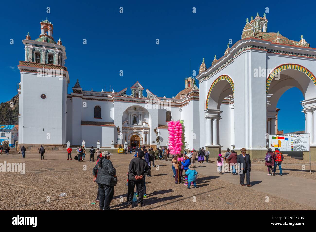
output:
[[246,186],[245,185],[245,174],[246,174],[246,181],[247,181],[247,187],[252,187],[250,184],[250,171],[251,171],[251,160],[250,160],[250,155],[246,154],[246,148],[241,148],[240,149],[241,154],[237,156],[237,163],[240,167],[240,171],[242,173],[240,174],[240,185],[241,186]]

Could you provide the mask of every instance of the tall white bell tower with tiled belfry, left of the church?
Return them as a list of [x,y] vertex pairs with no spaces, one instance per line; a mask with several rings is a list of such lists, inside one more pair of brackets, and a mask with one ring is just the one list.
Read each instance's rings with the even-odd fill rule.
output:
[[21,74],[18,90],[19,142],[32,146],[53,144],[63,147],[67,142],[66,100],[70,83],[65,67],[66,48],[60,38],[55,42],[50,21],[41,21],[40,26],[39,38],[32,40],[27,33],[22,40],[25,60],[18,65]]

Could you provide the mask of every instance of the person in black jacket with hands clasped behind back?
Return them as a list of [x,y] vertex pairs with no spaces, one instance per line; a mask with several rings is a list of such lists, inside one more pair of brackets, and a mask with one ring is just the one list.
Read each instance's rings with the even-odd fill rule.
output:
[[142,159],[144,157],[144,151],[137,150],[137,157],[132,159],[128,167],[128,185],[127,185],[127,207],[132,208],[132,201],[134,197],[134,188],[136,185],[138,192],[138,207],[143,206],[144,198],[144,181],[146,173],[149,170],[147,162]]

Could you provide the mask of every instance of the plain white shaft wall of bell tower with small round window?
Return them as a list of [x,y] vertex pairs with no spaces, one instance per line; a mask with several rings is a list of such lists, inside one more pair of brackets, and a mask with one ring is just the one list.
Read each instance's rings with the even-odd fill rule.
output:
[[[23,143],[62,144],[65,141],[66,81],[58,77],[21,74],[21,136]],[[46,99],[40,98],[46,94]],[[44,129],[44,131],[43,131]],[[48,135],[47,135],[48,134]],[[21,143],[21,142],[20,142]]]

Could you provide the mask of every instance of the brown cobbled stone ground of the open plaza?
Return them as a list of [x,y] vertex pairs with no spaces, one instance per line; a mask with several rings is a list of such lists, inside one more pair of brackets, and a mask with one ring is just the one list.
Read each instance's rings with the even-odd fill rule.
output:
[[[159,170],[152,168],[152,177],[146,177],[148,198],[142,208],[126,208],[127,171],[132,159],[131,154],[114,154],[111,161],[117,170],[118,183],[114,188],[112,209],[116,210],[182,210],[185,206],[191,210],[315,210],[316,203],[295,201],[271,193],[274,183],[255,181],[253,188],[242,187],[239,176],[228,173],[218,175],[215,162],[197,165],[199,188],[187,189],[182,184],[175,184],[172,178],[171,158],[168,162],[156,161]],[[97,184],[93,182],[92,168],[88,158],[84,162],[66,160],[66,154],[48,154],[40,160],[39,154],[21,154],[0,156],[0,163],[25,162],[26,172],[0,172],[0,209],[1,210],[98,210],[95,203]],[[87,165],[87,171],[83,170]],[[262,177],[265,172],[254,170]],[[210,174],[208,174],[210,173]],[[289,175],[287,175],[289,176]],[[229,179],[230,178],[230,179]],[[288,177],[296,178],[296,177]],[[304,180],[304,179],[303,179]],[[309,180],[313,181],[313,180]],[[269,186],[262,191],[260,185]],[[266,187],[265,187],[266,188]],[[312,189],[315,193],[315,184]],[[287,188],[284,192],[289,191]],[[269,193],[270,192],[270,193]],[[58,196],[66,193],[64,197]],[[120,196],[124,202],[120,202]],[[269,196],[269,202],[266,202]],[[50,202],[47,202],[50,197]],[[194,202],[193,199],[196,199]],[[315,200],[314,200],[315,201]],[[135,204],[135,203],[134,203]],[[134,205],[136,206],[136,204]]]

